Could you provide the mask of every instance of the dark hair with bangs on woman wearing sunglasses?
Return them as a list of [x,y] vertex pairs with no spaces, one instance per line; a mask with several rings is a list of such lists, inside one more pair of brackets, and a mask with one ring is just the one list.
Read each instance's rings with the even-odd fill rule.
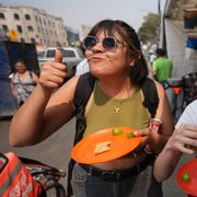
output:
[[117,33],[128,45],[128,53],[130,56],[136,58],[134,67],[130,68],[130,80],[132,84],[142,83],[148,76],[148,66],[142,55],[140,42],[135,30],[119,20],[103,20],[93,26],[89,36],[96,36],[100,32],[104,32],[105,35],[114,37],[115,33]]

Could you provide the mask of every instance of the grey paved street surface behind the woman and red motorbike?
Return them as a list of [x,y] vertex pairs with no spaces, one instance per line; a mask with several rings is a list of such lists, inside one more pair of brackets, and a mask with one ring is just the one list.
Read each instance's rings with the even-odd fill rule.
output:
[[[14,151],[18,155],[36,159],[40,162],[54,165],[66,170],[67,163],[70,158],[70,149],[74,132],[74,120],[71,120],[58,132],[53,135],[44,142],[28,148],[12,148],[8,144],[8,128],[9,120],[0,121],[0,151],[8,152]],[[188,158],[183,157],[179,165],[185,162]],[[176,167],[177,170],[178,167]],[[66,178],[61,179],[61,183],[66,186]],[[186,197],[185,194],[177,187],[174,175],[171,176],[163,184],[164,197]]]

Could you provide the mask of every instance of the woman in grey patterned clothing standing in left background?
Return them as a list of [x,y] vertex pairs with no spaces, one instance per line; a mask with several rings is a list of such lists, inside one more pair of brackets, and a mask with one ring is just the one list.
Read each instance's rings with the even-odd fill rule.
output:
[[20,107],[34,90],[38,82],[38,77],[33,71],[26,69],[23,60],[15,62],[15,70],[16,72],[10,76],[10,88],[16,106]]

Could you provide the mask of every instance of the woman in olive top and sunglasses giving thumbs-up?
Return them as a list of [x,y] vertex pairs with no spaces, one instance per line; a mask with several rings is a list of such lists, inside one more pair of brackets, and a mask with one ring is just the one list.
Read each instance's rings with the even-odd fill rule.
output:
[[[165,92],[155,82],[160,97],[155,117],[163,123],[163,135],[149,129],[151,116],[143,106],[140,89],[148,68],[137,34],[121,21],[104,20],[92,28],[83,43],[91,73],[97,79],[85,107],[83,137],[92,134],[92,130],[123,125],[136,128],[135,135],[142,135],[143,140],[136,157],[128,154],[95,165],[76,163],[71,182],[74,196],[162,196],[161,187],[150,171],[151,163],[148,162],[144,147],[149,143],[155,152],[160,152],[172,134],[173,123]],[[43,141],[74,116],[73,99],[79,77],[73,77],[51,94],[54,89],[61,85],[65,77],[66,68],[59,62],[48,62],[43,67],[38,85],[12,119],[12,146]],[[115,111],[116,104],[120,105],[119,111]],[[142,164],[143,167],[138,169]],[[104,174],[113,175],[102,178]],[[127,177],[119,179],[118,175],[121,174]],[[114,175],[117,175],[117,179],[112,178]]]

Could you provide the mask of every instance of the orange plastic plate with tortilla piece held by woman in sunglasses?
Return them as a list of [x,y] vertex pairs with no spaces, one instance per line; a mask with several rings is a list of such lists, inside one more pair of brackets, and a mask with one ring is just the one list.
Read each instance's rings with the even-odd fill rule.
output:
[[[121,129],[123,134],[117,136],[113,135],[114,128]],[[135,129],[128,127],[113,127],[97,131],[79,141],[72,148],[71,157],[77,162],[85,164],[102,163],[120,158],[140,144],[141,137],[127,138],[126,134],[134,130]],[[95,146],[104,141],[111,142],[111,150],[94,154]]]

